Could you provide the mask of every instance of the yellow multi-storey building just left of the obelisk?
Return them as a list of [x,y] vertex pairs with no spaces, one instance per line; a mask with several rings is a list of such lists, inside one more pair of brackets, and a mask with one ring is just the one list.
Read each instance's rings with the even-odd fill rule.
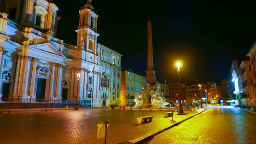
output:
[[135,99],[146,84],[146,77],[128,70],[121,71],[121,104],[135,105]]

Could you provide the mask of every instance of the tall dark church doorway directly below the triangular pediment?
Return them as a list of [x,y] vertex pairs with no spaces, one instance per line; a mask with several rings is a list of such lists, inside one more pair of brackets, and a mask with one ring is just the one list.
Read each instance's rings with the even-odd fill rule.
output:
[[45,88],[46,88],[46,79],[37,78],[37,93],[36,93],[37,100],[45,98]]

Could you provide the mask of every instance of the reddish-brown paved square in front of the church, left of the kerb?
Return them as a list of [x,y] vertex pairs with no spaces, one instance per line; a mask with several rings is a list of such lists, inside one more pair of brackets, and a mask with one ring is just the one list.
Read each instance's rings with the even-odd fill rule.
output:
[[[0,144],[104,144],[97,140],[99,120],[110,120],[109,144],[128,142],[149,132],[171,126],[167,111],[118,111],[109,108],[54,110],[52,112],[23,111],[0,114]],[[196,112],[178,115],[183,120]],[[92,116],[85,116],[92,115]],[[136,125],[137,117],[153,115],[153,121]]]

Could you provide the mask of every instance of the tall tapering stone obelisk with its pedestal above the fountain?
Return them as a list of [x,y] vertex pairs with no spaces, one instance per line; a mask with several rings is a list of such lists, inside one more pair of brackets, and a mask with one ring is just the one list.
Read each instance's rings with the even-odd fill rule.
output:
[[150,19],[147,22],[147,71],[146,83],[150,85],[156,84],[156,75],[153,64],[153,45],[152,45],[152,26]]

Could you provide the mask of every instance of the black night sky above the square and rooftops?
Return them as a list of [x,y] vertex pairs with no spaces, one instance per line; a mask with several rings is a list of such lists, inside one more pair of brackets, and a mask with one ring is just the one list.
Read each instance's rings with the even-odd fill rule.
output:
[[[59,7],[57,38],[76,45],[86,0],[54,0]],[[122,68],[145,75],[147,15],[153,31],[158,80],[177,81],[175,60],[183,60],[181,81],[224,79],[232,60],[242,59],[256,38],[255,3],[239,0],[92,0],[98,43],[123,55]]]

